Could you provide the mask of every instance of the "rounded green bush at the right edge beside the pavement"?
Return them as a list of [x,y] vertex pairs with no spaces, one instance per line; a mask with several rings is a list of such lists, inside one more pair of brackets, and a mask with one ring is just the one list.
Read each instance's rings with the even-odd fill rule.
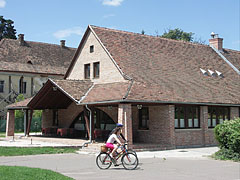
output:
[[214,134],[224,153],[240,154],[240,118],[217,125]]

